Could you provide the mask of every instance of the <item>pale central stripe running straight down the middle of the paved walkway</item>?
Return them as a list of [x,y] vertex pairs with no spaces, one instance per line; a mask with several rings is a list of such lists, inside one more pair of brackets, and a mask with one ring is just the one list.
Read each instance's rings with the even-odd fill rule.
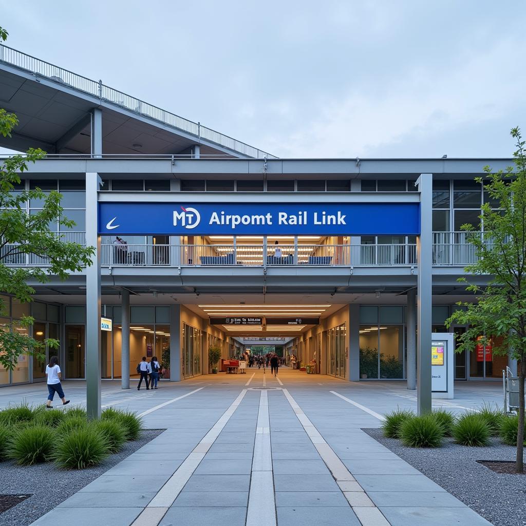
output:
[[274,477],[272,476],[268,391],[261,391],[259,395],[256,426],[246,526],[276,526],[276,497]]

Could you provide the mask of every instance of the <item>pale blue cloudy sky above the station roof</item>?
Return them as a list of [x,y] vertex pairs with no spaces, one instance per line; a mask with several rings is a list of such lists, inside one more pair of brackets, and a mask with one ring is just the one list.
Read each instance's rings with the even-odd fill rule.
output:
[[280,157],[508,157],[526,3],[0,0],[7,45]]

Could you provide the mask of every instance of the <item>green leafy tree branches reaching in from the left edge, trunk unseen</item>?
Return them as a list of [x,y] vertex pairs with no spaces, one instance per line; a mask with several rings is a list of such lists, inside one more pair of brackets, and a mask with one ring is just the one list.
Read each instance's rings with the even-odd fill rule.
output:
[[[5,41],[7,32],[0,27],[0,39]],[[0,134],[11,137],[18,124],[15,114],[0,108]],[[25,155],[14,155],[0,164],[0,291],[12,294],[23,303],[32,301],[35,289],[31,282],[45,283],[50,276],[66,279],[69,272],[80,271],[92,264],[93,247],[66,242],[63,235],[50,229],[60,221],[65,228],[75,222],[63,214],[62,196],[55,190],[49,194],[34,190],[15,190],[21,183],[19,174],[27,171],[28,163],[42,159],[46,152],[30,148]],[[42,200],[42,210],[27,214],[29,199]],[[34,261],[33,267],[8,266],[25,264],[26,255]],[[44,265],[44,266],[40,266]],[[6,316],[6,306],[0,299],[0,316]],[[58,347],[58,340],[48,338],[37,341],[28,336],[33,324],[31,316],[22,320],[0,323],[0,365],[8,370],[15,368],[18,357],[24,354],[45,360],[46,346]]]

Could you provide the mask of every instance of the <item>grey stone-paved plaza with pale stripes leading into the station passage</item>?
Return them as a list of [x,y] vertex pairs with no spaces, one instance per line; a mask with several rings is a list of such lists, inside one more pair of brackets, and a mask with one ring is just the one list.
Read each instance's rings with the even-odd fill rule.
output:
[[[64,382],[73,404],[84,382]],[[348,382],[282,368],[207,375],[153,391],[103,382],[103,407],[166,429],[44,515],[39,526],[488,525],[361,428],[416,408],[404,382]],[[498,382],[457,382],[454,413],[502,401]],[[44,403],[44,384],[0,390],[0,407]]]

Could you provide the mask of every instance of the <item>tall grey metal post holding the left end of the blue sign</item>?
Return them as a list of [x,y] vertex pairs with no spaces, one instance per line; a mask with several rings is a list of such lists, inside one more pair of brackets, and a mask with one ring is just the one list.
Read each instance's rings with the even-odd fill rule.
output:
[[86,409],[100,417],[100,236],[97,232],[98,174],[86,174],[86,245],[95,247],[86,267]]

